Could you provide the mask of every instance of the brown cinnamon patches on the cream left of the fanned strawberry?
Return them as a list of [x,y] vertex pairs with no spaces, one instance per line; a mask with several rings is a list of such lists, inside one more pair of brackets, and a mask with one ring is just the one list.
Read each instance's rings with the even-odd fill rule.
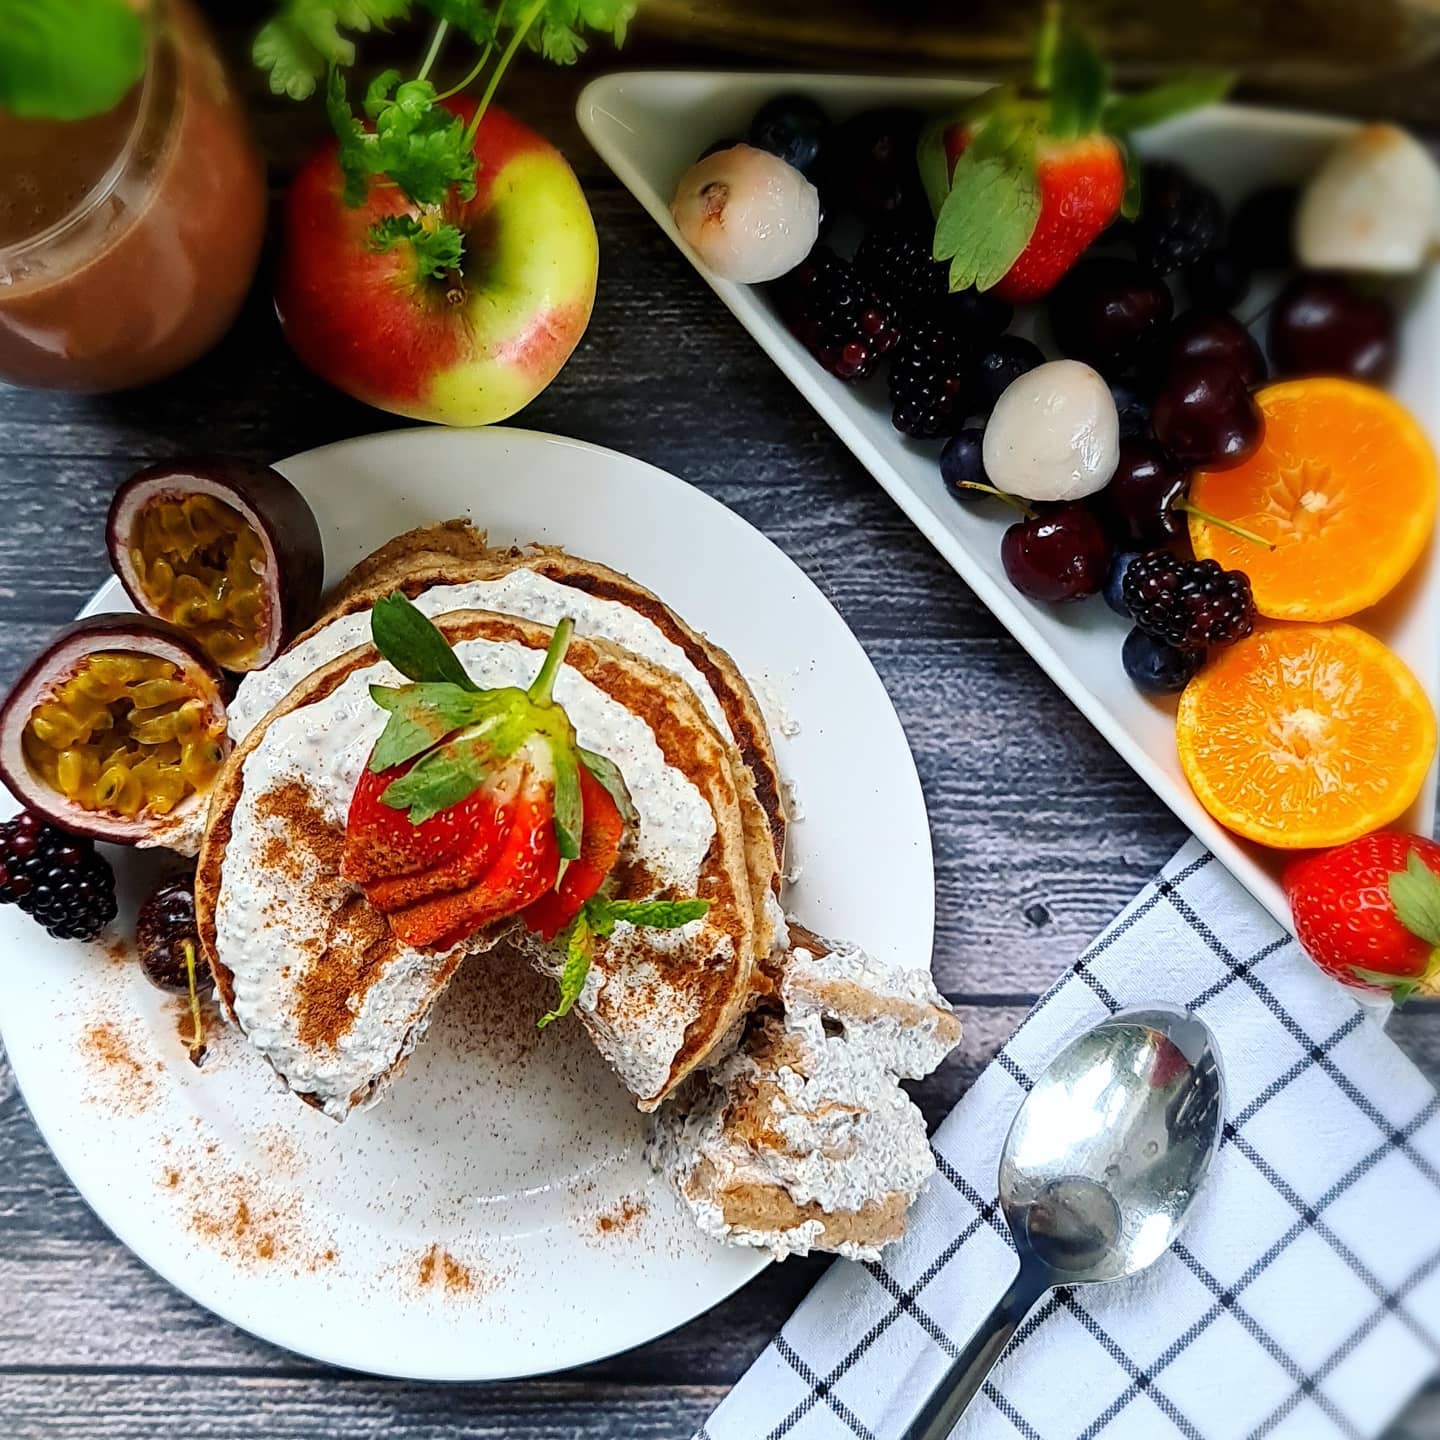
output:
[[[301,780],[268,791],[255,809],[278,821],[284,831],[262,851],[264,865],[297,883],[304,881],[311,865],[321,876],[338,877],[344,834],[330,824]],[[334,912],[324,945],[317,949],[295,986],[298,1038],[311,1048],[334,1048],[354,1025],[366,992],[395,958],[396,940],[384,916],[356,894]]]

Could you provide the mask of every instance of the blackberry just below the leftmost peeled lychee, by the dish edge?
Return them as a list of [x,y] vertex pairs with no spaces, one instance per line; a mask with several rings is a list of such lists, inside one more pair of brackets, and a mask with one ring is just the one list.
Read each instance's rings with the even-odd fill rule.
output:
[[805,348],[841,380],[863,380],[900,338],[894,311],[825,245],[775,282],[775,304]]

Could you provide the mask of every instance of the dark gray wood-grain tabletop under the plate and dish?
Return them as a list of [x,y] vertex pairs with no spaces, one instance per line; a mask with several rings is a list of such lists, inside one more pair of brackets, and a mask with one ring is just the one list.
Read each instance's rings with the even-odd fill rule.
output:
[[[1184,831],[579,143],[573,88],[539,94],[516,108],[543,109],[580,170],[602,275],[583,346],[520,422],[719,497],[793,556],[868,651],[924,783],[935,971],[966,1024],[959,1056],[919,1090],[933,1122]],[[258,124],[282,176],[305,125],[264,104]],[[138,464],[203,449],[272,459],[387,423],[291,357],[265,275],[225,343],[166,384],[112,397],[0,386],[0,683],[107,577],[105,507]],[[1440,1076],[1440,1011],[1416,1008],[1394,1032]],[[554,1378],[432,1387],[327,1369],[239,1333],[130,1256],[50,1158],[0,1056],[4,1440],[684,1440],[819,1270],[770,1267],[684,1329]],[[1440,1437],[1440,1387],[1401,1437]]]

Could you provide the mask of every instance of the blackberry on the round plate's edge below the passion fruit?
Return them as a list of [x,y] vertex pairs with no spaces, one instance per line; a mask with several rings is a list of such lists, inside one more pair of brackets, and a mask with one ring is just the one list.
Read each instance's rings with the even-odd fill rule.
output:
[[115,874],[92,840],[22,811],[0,824],[0,904],[17,904],[58,940],[94,940],[115,919]]

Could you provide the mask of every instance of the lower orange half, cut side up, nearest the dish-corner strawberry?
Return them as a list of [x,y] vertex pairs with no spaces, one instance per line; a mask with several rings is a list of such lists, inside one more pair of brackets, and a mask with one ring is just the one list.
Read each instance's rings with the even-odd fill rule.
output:
[[1263,625],[1185,687],[1179,763],[1221,825],[1279,850],[1342,845],[1420,793],[1434,711],[1404,661],[1354,625]]

